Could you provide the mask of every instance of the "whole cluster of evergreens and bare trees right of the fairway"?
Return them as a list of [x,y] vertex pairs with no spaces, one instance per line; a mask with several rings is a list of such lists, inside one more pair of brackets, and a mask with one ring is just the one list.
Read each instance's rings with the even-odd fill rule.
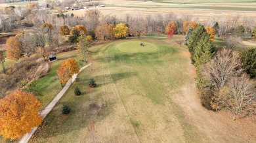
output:
[[[196,67],[197,87],[202,105],[209,110],[229,110],[238,117],[255,115],[256,49],[249,48],[242,54],[232,49],[216,51],[212,44],[213,27],[190,27],[185,43]],[[247,73],[246,73],[247,72]]]

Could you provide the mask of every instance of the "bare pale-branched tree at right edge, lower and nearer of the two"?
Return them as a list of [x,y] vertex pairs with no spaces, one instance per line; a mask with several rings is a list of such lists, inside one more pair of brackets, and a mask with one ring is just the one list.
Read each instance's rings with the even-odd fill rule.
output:
[[238,116],[255,114],[256,89],[249,76],[236,76],[230,80],[228,86],[229,91],[221,97],[221,101],[234,114],[234,120]]

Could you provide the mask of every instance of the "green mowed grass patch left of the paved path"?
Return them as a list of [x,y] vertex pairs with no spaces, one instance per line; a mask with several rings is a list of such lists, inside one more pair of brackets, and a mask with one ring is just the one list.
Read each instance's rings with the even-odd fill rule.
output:
[[39,78],[33,84],[35,84],[35,89],[43,93],[43,96],[37,96],[37,98],[43,103],[42,110],[49,104],[53,97],[62,89],[60,82],[58,81],[57,69],[60,67],[60,63],[68,58],[75,58],[79,67],[83,67],[85,64],[79,61],[79,52],[77,50],[71,52],[64,52],[57,54],[57,61],[49,63],[49,73],[47,76]]

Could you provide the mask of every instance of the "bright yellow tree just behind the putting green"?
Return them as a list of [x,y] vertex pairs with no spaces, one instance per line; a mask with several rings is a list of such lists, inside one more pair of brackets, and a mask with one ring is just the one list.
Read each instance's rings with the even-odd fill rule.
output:
[[124,23],[117,24],[113,32],[117,39],[124,38],[128,35],[128,27]]

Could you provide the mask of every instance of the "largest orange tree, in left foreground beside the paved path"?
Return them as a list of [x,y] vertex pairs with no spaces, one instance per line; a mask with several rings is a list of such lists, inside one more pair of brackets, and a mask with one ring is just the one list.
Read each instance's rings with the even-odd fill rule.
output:
[[19,138],[30,133],[42,122],[42,103],[29,92],[16,90],[0,99],[0,134],[4,138]]

